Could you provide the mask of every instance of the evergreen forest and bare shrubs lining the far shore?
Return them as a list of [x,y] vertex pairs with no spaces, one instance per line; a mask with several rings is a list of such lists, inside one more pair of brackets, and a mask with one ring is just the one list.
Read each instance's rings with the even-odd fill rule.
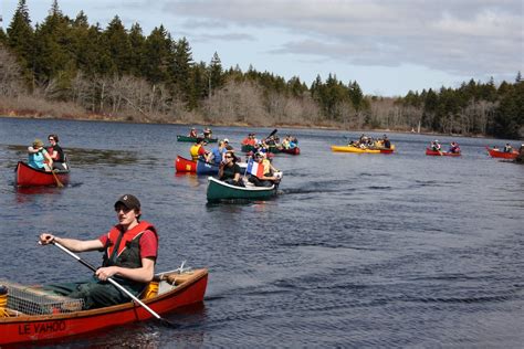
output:
[[0,92],[3,109],[39,112],[44,105],[64,117],[524,137],[520,72],[499,86],[471,80],[404,97],[365,95],[356,81],[335,74],[318,75],[308,86],[252,66],[223,68],[218,53],[209,63],[196,62],[187,39],[172,38],[164,25],[144,34],[138,23],[126,29],[115,15],[103,29],[83,11],[64,15],[57,0],[34,27],[19,0],[0,30]]

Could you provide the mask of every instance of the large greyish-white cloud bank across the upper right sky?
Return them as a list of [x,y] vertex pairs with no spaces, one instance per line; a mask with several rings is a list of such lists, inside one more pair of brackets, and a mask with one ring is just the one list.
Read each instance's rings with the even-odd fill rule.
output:
[[418,64],[465,75],[522,68],[520,0],[191,0],[165,1],[164,8],[228,23],[239,32],[279,28],[294,36],[268,53],[321,56],[357,65]]

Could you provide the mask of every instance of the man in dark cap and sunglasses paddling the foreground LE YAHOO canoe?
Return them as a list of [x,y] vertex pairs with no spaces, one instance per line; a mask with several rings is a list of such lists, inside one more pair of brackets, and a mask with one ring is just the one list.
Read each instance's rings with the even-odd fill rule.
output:
[[107,282],[112,277],[138,296],[155,275],[158,253],[158,236],[155,226],[139,221],[140,201],[132,194],[125,194],[115,202],[118,224],[95,240],[57,237],[42,233],[41,245],[60,243],[73,252],[104,251],[104,260],[92,281],[73,284],[44,286],[63,296],[82,298],[84,309],[107,307],[129,302],[129,298]]

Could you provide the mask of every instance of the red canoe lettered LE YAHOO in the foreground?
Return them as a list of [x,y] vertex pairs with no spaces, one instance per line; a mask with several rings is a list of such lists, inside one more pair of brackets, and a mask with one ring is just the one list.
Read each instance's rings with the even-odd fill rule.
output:
[[[207,269],[195,269],[182,274],[167,273],[161,276],[159,294],[143,302],[161,315],[203,302],[207,284]],[[55,340],[153,317],[140,305],[132,302],[107,308],[70,313],[60,313],[53,308],[53,311],[46,315],[28,315],[12,309],[7,311],[9,317],[0,318],[0,346]]]

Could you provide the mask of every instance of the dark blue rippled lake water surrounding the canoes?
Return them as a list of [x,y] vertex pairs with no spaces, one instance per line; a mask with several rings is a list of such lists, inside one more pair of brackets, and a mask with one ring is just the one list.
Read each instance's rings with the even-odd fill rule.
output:
[[[279,129],[274,200],[207,204],[206,177],[176,176],[189,126],[0,118],[0,278],[41,284],[90,272],[42,231],[94,239],[136,194],[160,234],[157,271],[209,268],[201,306],[61,341],[63,347],[503,347],[524,342],[524,166],[492,159],[505,140],[451,138],[463,156],[427,157],[431,137],[388,134],[394,155],[332,152],[359,133]],[[240,148],[249,133],[214,127]],[[56,133],[72,165],[63,189],[18,190],[15,163]],[[381,134],[371,133],[373,136]],[[516,147],[518,144],[513,142]],[[98,253],[83,254],[93,264]]]

